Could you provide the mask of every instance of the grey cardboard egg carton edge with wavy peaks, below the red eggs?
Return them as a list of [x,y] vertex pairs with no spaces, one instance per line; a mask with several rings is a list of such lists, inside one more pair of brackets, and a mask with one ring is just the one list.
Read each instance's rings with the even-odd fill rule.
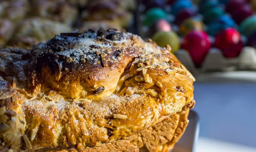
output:
[[189,52],[180,49],[175,54],[182,64],[195,76],[213,71],[256,71],[256,49],[246,46],[236,58],[225,58],[218,48],[211,48],[202,63],[201,68],[196,68]]

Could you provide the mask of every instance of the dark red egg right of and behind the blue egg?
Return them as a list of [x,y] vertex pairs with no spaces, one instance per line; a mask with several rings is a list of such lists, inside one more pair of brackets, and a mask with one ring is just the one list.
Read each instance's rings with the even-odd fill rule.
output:
[[253,10],[250,5],[244,5],[239,10],[232,14],[233,19],[237,24],[240,24],[244,19],[253,15]]

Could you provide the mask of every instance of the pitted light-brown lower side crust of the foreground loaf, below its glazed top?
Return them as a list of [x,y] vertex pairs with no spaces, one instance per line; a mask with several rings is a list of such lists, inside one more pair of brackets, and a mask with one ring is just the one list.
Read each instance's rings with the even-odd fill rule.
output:
[[169,152],[173,149],[174,143],[180,138],[179,130],[184,130],[188,124],[188,113],[189,110],[181,115],[163,116],[163,119],[159,119],[158,123],[152,127],[128,136],[125,139],[102,144],[97,147],[87,147],[81,150],[41,149],[36,152]]

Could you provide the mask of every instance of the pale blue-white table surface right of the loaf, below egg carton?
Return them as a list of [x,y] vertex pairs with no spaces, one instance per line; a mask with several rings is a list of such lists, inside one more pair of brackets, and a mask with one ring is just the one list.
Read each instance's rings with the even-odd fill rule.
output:
[[[230,146],[221,142],[210,144],[204,138],[225,141],[232,143],[229,144],[232,146],[241,145],[241,148],[252,147],[254,149],[251,150],[256,152],[256,82],[204,82],[195,83],[194,86],[194,110],[200,120],[198,152],[222,152],[216,150],[221,147],[223,152],[233,150],[225,151],[225,147]],[[200,151],[207,145],[213,151]]]

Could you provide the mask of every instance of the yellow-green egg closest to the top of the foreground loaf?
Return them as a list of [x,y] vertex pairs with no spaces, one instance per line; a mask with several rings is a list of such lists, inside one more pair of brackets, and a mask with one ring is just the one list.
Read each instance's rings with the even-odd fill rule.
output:
[[169,32],[159,31],[153,35],[152,39],[155,42],[157,42],[157,45],[161,47],[170,45],[172,48],[172,53],[176,53],[180,48],[179,37],[173,31],[169,31]]

